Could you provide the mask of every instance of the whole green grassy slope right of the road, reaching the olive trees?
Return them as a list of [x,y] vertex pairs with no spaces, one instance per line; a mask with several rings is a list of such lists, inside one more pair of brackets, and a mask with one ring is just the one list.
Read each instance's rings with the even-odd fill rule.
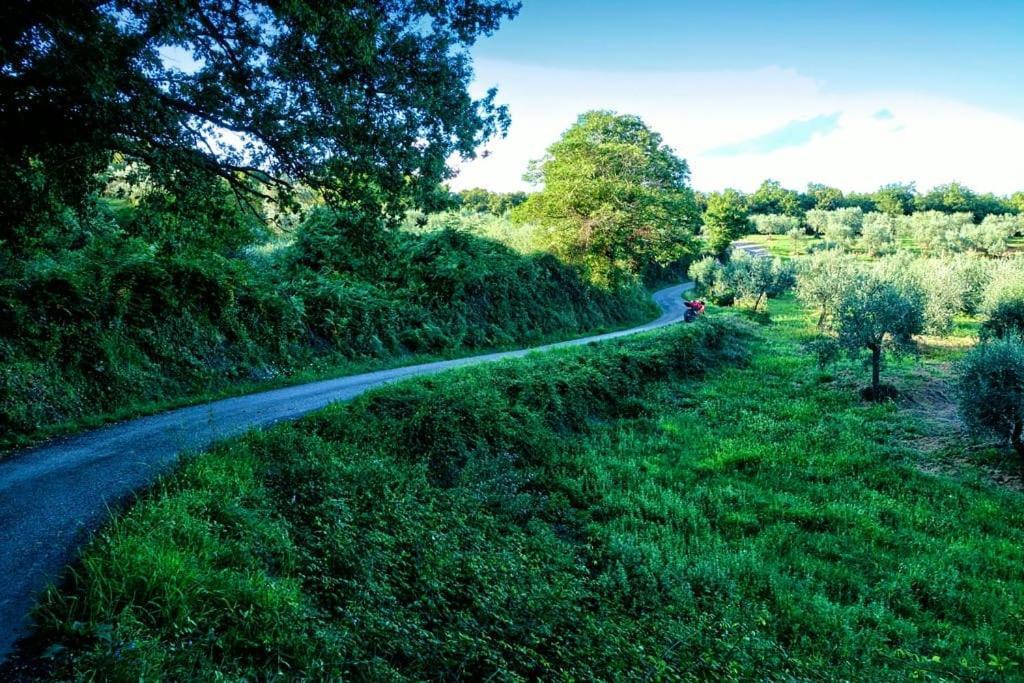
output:
[[712,321],[222,446],[91,547],[41,642],[132,679],[1019,675],[1020,494],[924,473],[928,426],[773,313],[702,382],[669,376],[720,365]]

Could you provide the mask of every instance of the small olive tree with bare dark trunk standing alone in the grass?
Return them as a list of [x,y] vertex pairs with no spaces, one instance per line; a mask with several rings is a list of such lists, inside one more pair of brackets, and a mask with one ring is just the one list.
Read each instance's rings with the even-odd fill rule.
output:
[[840,348],[851,355],[868,351],[871,387],[867,395],[872,399],[883,396],[883,354],[912,349],[913,337],[922,332],[924,323],[924,296],[920,290],[868,270],[847,281],[840,291],[835,316],[827,318]]

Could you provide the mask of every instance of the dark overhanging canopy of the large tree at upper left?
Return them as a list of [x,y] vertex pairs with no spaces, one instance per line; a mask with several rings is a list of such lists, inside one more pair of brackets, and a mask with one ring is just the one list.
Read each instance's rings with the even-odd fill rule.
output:
[[[114,152],[239,191],[397,210],[508,124],[467,52],[515,0],[10,0],[0,221],[74,203]],[[6,229],[6,228],[5,228]],[[0,234],[0,239],[3,236]]]

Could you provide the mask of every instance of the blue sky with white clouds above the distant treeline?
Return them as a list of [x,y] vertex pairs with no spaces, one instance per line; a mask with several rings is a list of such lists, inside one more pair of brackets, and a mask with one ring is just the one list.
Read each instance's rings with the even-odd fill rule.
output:
[[593,109],[640,116],[702,190],[1024,189],[1024,0],[524,0],[472,53],[512,125],[455,189],[528,189]]

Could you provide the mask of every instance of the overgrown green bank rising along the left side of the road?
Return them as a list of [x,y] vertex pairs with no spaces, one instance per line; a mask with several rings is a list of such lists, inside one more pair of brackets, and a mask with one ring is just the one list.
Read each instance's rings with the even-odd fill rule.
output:
[[[77,293],[75,305],[50,319],[40,312],[45,306],[31,299],[15,307],[24,329],[0,330],[0,458],[117,420],[600,334],[640,325],[657,312],[639,287],[600,290],[550,257],[519,254],[458,231],[406,236],[391,249],[396,253],[385,260],[400,274],[390,273],[395,282],[380,287],[373,278],[341,278],[331,270],[300,269],[303,276],[291,281],[278,273],[282,281],[271,282],[285,265],[236,259],[226,267],[229,260],[209,254],[195,262],[142,259],[141,265],[110,259],[102,250],[66,254],[74,267],[55,268],[42,278],[46,287],[39,287],[49,292],[67,285]],[[193,276],[211,262],[224,267],[206,273],[206,289],[182,280],[179,270]],[[128,279],[133,285],[122,291],[108,282],[110,273],[93,272],[119,267],[141,269],[150,279]],[[10,303],[5,295],[31,289],[23,285],[17,279],[0,283],[0,317]],[[129,311],[139,319],[115,314],[106,301],[115,295],[138,299]],[[153,300],[172,303],[162,308]]]

